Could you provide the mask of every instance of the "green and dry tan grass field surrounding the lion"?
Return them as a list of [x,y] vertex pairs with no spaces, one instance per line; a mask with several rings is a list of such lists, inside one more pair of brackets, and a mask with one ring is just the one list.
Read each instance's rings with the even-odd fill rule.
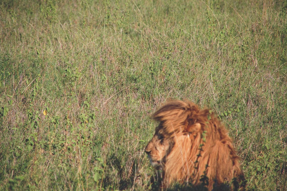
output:
[[287,1],[0,2],[0,190],[148,190],[150,115],[211,107],[247,190],[287,189]]

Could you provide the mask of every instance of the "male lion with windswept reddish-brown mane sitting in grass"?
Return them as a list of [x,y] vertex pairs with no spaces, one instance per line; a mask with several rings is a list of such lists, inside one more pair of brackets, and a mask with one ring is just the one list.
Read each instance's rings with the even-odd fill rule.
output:
[[[244,180],[239,157],[225,126],[210,109],[190,101],[169,101],[152,118],[159,121],[145,148],[150,163],[162,172],[161,186],[202,184],[208,190]],[[235,183],[236,182],[236,183]]]

